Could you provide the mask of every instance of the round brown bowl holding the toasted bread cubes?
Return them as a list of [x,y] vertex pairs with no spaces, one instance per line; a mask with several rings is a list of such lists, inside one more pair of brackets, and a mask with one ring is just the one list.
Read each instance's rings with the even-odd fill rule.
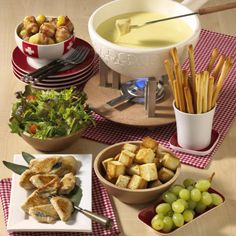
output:
[[[102,166],[102,161],[107,158],[116,156],[121,151],[122,146],[125,143],[140,144],[141,141],[126,141],[126,142],[116,143],[103,149],[100,153],[98,153],[98,155],[94,160],[94,171],[96,176],[98,177],[100,183],[107,190],[107,192],[113,195],[114,197],[118,198],[122,202],[129,204],[142,204],[157,199],[163,192],[169,189],[170,186],[176,181],[176,179],[180,174],[181,167],[179,166],[177,168],[175,175],[168,182],[158,187],[147,188],[147,189],[136,189],[136,190],[117,187],[115,184],[109,182],[104,178],[105,173]],[[161,151],[170,152],[168,149],[160,145],[159,148]]]

